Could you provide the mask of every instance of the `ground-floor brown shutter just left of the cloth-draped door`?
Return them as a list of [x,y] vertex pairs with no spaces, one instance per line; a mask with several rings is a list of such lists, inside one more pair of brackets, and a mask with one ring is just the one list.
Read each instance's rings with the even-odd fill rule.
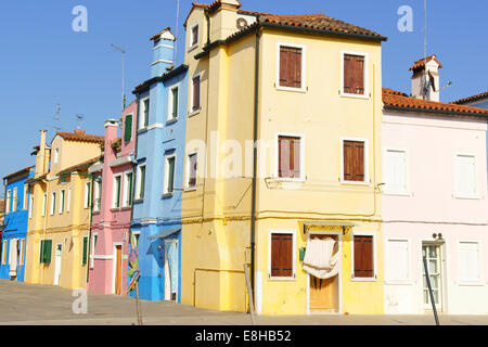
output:
[[271,234],[271,277],[293,277],[292,234]]

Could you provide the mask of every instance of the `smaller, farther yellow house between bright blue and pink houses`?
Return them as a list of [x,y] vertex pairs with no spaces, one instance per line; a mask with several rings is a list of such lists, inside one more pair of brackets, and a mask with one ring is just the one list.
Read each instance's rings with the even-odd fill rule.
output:
[[25,281],[85,288],[91,208],[88,167],[99,160],[104,138],[82,130],[56,132],[47,145],[46,134],[42,130],[36,175],[28,181],[34,205]]

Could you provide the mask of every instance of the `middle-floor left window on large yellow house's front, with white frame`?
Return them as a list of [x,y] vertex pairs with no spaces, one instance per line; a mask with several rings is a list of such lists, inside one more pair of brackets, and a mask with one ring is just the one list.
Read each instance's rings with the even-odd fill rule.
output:
[[278,178],[304,178],[301,152],[301,137],[278,136]]

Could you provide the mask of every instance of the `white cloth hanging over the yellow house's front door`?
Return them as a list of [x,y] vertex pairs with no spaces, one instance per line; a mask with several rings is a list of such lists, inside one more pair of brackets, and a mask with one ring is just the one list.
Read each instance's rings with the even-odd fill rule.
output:
[[337,275],[339,254],[338,252],[333,254],[335,244],[336,241],[331,237],[308,240],[303,266],[304,271],[321,280]]

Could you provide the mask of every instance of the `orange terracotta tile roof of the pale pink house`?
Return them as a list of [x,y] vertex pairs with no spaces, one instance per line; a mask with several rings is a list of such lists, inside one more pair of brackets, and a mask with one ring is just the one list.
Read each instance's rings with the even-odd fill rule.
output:
[[383,88],[383,103],[385,108],[393,110],[488,117],[488,110],[410,98],[390,88]]

